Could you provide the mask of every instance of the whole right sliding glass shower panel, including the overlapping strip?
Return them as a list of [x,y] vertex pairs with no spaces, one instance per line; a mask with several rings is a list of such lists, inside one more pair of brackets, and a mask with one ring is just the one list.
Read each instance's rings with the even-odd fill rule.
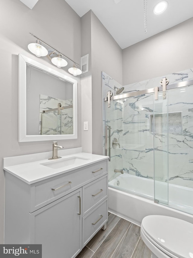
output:
[[154,102],[155,201],[193,214],[193,86]]

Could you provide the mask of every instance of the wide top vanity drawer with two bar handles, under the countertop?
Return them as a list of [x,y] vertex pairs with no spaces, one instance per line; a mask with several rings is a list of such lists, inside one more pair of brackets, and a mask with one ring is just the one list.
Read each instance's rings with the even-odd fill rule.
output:
[[107,174],[107,161],[97,162],[31,185],[30,213]]

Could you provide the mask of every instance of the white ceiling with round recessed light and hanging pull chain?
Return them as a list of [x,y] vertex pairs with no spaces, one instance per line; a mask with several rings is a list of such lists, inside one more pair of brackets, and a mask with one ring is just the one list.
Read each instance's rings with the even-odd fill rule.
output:
[[166,0],[168,8],[160,15],[153,7],[161,0],[147,0],[145,34],[144,0],[65,1],[80,17],[91,9],[122,49],[193,17],[193,0]]

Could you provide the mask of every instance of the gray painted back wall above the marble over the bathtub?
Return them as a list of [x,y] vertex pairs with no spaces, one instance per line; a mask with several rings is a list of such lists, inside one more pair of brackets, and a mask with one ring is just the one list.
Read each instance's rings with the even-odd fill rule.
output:
[[193,18],[190,18],[123,49],[123,85],[192,67],[192,27]]

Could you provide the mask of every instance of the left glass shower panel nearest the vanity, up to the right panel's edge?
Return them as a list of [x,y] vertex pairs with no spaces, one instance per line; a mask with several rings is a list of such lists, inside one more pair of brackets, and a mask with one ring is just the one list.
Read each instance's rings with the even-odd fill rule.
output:
[[[137,93],[137,92],[136,92]],[[154,94],[106,103],[107,155],[110,147],[109,186],[154,199],[153,116]],[[110,128],[110,131],[109,131]],[[118,142],[113,146],[113,142]],[[119,148],[120,145],[120,148]],[[116,147],[116,148],[114,148]],[[122,170],[124,179],[118,180]],[[121,179],[121,177],[120,177]],[[118,185],[119,184],[119,185]]]

